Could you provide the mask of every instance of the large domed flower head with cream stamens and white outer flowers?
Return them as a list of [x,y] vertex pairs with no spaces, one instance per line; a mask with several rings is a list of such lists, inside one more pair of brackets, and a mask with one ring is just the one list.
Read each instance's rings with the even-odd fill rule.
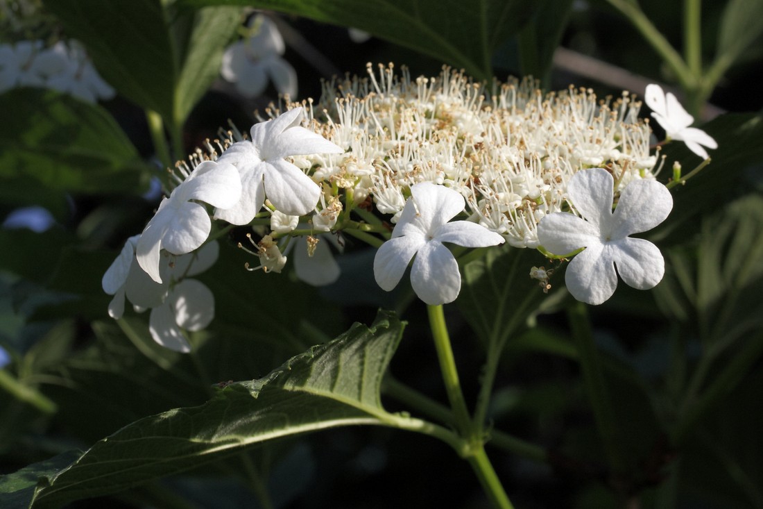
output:
[[[251,229],[256,269],[282,271],[296,248],[290,258],[310,284],[339,277],[328,247],[342,245],[336,235],[381,245],[379,286],[396,287],[413,260],[414,291],[435,305],[455,300],[461,286],[443,242],[507,242],[558,258],[584,249],[565,278],[572,295],[588,303],[611,296],[617,272],[636,288],[662,279],[657,248],[629,238],[662,222],[672,200],[655,180],[664,158],[650,146],[641,103],[628,93],[599,99],[570,87],[543,95],[529,79],[480,84],[448,68],[411,79],[391,65],[378,74],[369,65],[365,79],[327,83],[317,106],[273,106],[249,136],[233,129],[179,164],[178,185],[123,252],[130,271],[170,290],[185,282],[187,274],[168,281],[163,260],[207,245],[215,219]],[[543,291],[550,274],[530,272]],[[114,281],[105,289],[118,296],[124,281]],[[154,307],[126,291],[137,306]],[[161,303],[170,305],[162,316],[177,313],[171,295],[163,293]]]

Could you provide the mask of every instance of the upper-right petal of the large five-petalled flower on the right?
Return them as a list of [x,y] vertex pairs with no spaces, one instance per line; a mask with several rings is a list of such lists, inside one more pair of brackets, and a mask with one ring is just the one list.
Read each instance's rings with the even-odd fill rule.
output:
[[656,180],[634,180],[620,195],[613,214],[611,238],[646,232],[665,221],[673,209],[673,196]]

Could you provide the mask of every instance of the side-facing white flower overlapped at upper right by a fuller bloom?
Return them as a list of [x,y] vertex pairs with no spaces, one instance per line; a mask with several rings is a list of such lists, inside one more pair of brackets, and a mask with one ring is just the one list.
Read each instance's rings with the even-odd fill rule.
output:
[[169,198],[162,200],[156,215],[140,235],[135,251],[143,271],[161,283],[161,249],[172,254],[185,254],[207,240],[211,219],[196,200],[224,209],[237,203],[240,195],[241,181],[235,167],[211,160],[199,164],[182,184],[172,190]]

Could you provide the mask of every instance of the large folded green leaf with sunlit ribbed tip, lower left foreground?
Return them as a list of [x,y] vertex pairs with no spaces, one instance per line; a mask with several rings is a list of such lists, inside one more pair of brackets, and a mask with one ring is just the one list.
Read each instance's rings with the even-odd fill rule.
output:
[[356,324],[265,378],[227,385],[200,407],[138,420],[47,476],[34,507],[113,493],[279,437],[405,419],[386,413],[379,395],[403,326],[379,313],[370,328]]

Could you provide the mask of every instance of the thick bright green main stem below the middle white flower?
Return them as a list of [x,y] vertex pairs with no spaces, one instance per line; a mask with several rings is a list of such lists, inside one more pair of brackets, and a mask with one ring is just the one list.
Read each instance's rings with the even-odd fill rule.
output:
[[443,306],[428,305],[427,313],[429,314],[440,371],[443,374],[448,400],[456,420],[456,427],[465,441],[466,447],[462,451],[462,456],[467,459],[469,465],[472,465],[472,470],[474,470],[485,494],[494,506],[501,509],[513,509],[513,505],[506,491],[504,491],[490,459],[488,459],[488,454],[485,452],[483,430],[481,426],[474,426],[469,417],[466,401],[461,391],[459,374],[456,370],[456,359],[453,357],[453,350],[450,345]]

